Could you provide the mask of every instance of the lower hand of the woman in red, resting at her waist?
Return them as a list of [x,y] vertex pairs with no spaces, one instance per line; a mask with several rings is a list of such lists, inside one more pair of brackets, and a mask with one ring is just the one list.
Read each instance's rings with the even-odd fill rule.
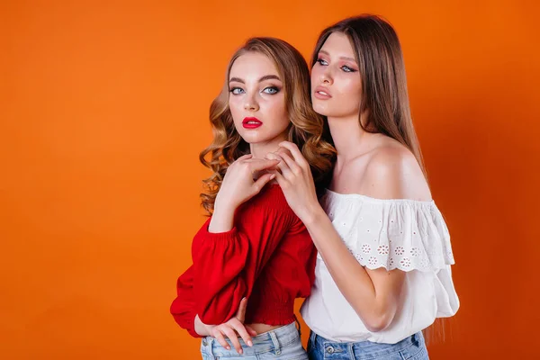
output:
[[221,347],[225,347],[227,350],[230,350],[229,343],[227,340],[225,340],[225,337],[227,337],[230,339],[233,347],[240,355],[243,354],[244,351],[242,350],[240,342],[238,341],[238,335],[244,340],[248,347],[253,347],[251,337],[257,336],[257,332],[254,329],[244,325],[244,321],[246,320],[246,308],[247,299],[244,298],[240,302],[237,314],[234,318],[211,328],[211,337],[216,338]]

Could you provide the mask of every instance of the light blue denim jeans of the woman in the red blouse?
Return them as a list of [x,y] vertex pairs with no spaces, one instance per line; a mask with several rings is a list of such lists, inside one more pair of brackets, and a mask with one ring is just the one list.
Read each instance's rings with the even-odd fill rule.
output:
[[268,331],[257,335],[253,339],[253,347],[247,347],[244,340],[238,338],[243,355],[239,355],[232,344],[229,342],[230,350],[220,346],[220,343],[211,337],[202,338],[201,354],[203,360],[266,360],[266,359],[284,359],[284,360],[308,360],[308,355],[302,347],[300,331],[296,329],[296,323],[293,322],[284,327]]

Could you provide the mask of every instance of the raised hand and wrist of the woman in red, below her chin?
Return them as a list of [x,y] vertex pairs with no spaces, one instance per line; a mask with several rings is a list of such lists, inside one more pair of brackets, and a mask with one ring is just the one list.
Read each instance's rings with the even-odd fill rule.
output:
[[266,183],[275,177],[266,173],[253,180],[254,175],[273,168],[277,163],[277,160],[253,158],[251,154],[238,157],[227,169],[216,197],[215,208],[224,206],[234,212],[240,204],[257,195]]

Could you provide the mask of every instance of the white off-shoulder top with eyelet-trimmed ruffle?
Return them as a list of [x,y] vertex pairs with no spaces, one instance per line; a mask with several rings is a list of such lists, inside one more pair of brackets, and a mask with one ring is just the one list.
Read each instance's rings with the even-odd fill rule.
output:
[[311,297],[302,317],[318,335],[333,341],[394,344],[455,315],[459,300],[452,281],[455,264],[450,235],[435,202],[382,200],[327,190],[320,199],[339,236],[369,269],[406,272],[400,307],[392,324],[370,332],[339,292],[318,255]]

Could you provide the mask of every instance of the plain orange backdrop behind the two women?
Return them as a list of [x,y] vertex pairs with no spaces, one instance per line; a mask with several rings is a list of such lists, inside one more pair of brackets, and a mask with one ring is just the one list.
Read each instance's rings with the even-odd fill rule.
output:
[[453,236],[462,308],[431,358],[536,353],[534,2],[182,3],[1,2],[0,358],[197,358],[168,307],[229,56],[272,35],[309,57],[324,27],[364,12],[401,37]]

